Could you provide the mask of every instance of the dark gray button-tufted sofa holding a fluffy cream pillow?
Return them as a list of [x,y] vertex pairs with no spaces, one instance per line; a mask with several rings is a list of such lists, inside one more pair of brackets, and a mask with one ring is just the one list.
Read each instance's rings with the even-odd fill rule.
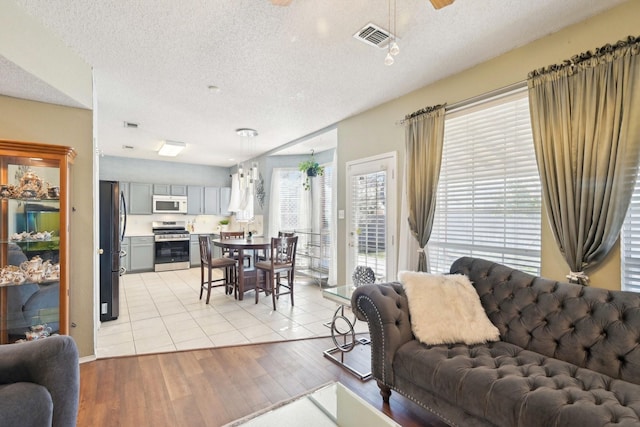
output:
[[395,390],[453,426],[640,425],[640,295],[477,258],[451,273],[470,278],[500,341],[421,344],[401,284],[354,291],[385,401]]

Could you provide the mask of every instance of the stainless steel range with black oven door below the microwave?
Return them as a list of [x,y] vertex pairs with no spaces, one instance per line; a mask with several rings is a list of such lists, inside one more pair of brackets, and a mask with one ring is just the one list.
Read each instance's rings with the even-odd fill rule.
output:
[[189,263],[189,232],[185,221],[153,221],[155,271],[185,270]]

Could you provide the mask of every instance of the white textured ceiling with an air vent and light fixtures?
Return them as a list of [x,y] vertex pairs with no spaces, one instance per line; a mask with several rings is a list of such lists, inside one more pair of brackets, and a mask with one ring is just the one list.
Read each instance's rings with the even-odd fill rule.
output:
[[[187,144],[176,161],[229,166],[624,0],[456,0],[437,11],[400,0],[392,66],[385,50],[352,37],[369,22],[389,27],[380,0],[8,1],[94,68],[104,154],[158,159],[168,139]],[[74,106],[20,71],[0,57],[0,93]],[[259,136],[247,142],[235,134],[241,127]]]

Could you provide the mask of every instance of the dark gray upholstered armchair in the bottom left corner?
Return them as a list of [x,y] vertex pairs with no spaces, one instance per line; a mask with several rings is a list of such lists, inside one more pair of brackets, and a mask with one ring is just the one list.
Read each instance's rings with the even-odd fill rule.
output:
[[76,425],[78,349],[69,336],[0,345],[0,425]]

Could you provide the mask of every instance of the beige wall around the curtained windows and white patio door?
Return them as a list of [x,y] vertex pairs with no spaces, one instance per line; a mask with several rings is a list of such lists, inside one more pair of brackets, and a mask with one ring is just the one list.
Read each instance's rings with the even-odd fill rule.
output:
[[[628,35],[640,35],[640,1],[631,0],[580,24],[539,39],[455,76],[443,79],[394,101],[342,121],[338,125],[338,209],[346,209],[345,164],[390,151],[398,152],[399,176],[404,164],[404,129],[395,123],[406,114],[429,105],[454,104],[526,79],[529,71]],[[473,42],[473,41],[470,41]],[[481,47],[479,47],[481,48]],[[402,180],[398,179],[398,194]],[[400,213],[398,200],[398,214]],[[542,275],[565,280],[568,266],[559,255],[547,218],[542,226]],[[399,231],[399,230],[398,230]],[[339,220],[338,278],[346,280],[346,224]],[[603,265],[588,272],[593,286],[620,288],[619,247]]]

